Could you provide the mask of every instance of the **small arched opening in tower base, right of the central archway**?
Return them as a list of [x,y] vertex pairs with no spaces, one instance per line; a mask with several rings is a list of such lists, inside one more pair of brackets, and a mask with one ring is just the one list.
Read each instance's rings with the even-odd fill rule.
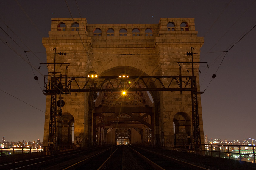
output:
[[191,144],[191,122],[187,113],[179,112],[173,118],[174,144]]

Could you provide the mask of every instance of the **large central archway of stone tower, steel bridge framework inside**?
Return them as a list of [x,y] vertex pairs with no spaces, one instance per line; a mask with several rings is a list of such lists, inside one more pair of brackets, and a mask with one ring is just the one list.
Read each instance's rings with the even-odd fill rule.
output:
[[129,88],[146,88],[146,86],[156,88],[156,85],[150,79],[145,82],[146,85],[139,79],[129,80],[127,76],[146,74],[134,68],[118,67],[101,74],[101,76],[117,77],[111,80],[111,83],[101,84],[101,87],[106,89],[117,87],[123,75],[127,79],[122,86],[125,94],[103,91],[99,92],[94,100],[93,144],[154,143],[155,133],[158,133],[155,132],[158,113],[154,112],[154,108],[157,108],[154,105],[158,102],[154,101],[157,101],[158,92],[131,92]]

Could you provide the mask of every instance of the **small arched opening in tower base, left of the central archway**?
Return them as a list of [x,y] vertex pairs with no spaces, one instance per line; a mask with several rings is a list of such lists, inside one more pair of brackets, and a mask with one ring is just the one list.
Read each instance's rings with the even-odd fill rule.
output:
[[57,145],[71,145],[74,141],[74,117],[70,113],[63,113],[57,118]]

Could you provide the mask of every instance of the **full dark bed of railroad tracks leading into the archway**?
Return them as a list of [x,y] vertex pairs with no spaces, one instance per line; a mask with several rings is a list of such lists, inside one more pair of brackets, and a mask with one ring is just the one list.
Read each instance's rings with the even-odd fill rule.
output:
[[0,169],[206,169],[135,146],[116,145],[0,165]]

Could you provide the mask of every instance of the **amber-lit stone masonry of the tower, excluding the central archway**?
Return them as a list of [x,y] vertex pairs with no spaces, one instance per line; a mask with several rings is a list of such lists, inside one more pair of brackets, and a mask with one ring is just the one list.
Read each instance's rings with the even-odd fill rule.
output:
[[[101,76],[118,75],[124,71],[134,76],[178,76],[180,73],[191,76],[192,73],[188,73],[186,69],[191,68],[191,65],[182,64],[180,70],[177,62],[191,61],[191,57],[185,55],[191,51],[191,47],[194,48],[194,53],[198,53],[193,55],[194,61],[199,62],[203,42],[203,37],[197,37],[194,18],[160,18],[159,24],[88,24],[85,18],[74,18],[74,21],[72,18],[54,18],[49,37],[43,38],[47,63],[53,62],[55,47],[57,53],[67,53],[57,55],[56,62],[70,63],[68,76],[86,76],[90,71],[96,71]],[[198,67],[199,64],[195,65],[195,68]],[[53,66],[49,65],[48,69],[52,72]],[[56,66],[56,72],[65,75],[66,66]],[[198,70],[195,70],[195,75],[199,91]],[[187,136],[192,133],[191,92],[151,94],[154,100],[153,144],[174,144],[174,122],[175,133],[186,133],[184,140],[187,140]],[[70,141],[71,134],[64,134],[65,131],[70,131],[74,122],[74,140],[79,144],[92,145],[93,116],[88,116],[88,95],[88,92],[63,95],[63,115],[69,116],[57,120],[57,126],[63,126],[57,132],[59,136],[62,134],[62,143]],[[203,142],[200,95],[198,107]],[[47,97],[44,145],[48,141],[49,112],[50,98]],[[64,127],[64,124],[58,122],[68,126]]]

